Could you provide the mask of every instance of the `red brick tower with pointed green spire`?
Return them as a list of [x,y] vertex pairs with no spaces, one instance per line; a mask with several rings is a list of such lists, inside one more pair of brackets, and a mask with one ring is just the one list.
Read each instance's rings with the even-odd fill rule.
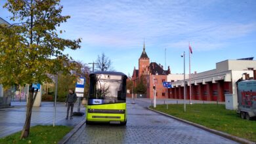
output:
[[148,66],[150,65],[150,59],[145,51],[145,42],[143,45],[143,52],[139,58],[139,77],[141,75],[148,75]]

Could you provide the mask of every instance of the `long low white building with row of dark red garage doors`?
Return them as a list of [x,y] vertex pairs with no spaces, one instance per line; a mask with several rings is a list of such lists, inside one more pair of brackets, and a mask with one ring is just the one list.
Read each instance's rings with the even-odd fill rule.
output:
[[[216,63],[216,69],[192,74],[190,81],[191,97],[196,100],[225,101],[225,94],[232,94],[232,105],[234,109],[237,109],[238,96],[236,82],[244,74],[247,74],[247,76],[253,79],[255,70],[255,60],[225,60],[218,62]],[[190,99],[189,79],[185,81],[186,99]],[[172,82],[172,86],[173,88],[169,92],[169,98],[183,99],[183,80]]]

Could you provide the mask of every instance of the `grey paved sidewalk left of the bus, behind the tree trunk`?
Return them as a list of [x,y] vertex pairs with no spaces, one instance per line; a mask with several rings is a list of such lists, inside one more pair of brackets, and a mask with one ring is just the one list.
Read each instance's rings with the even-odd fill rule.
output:
[[[26,102],[12,101],[11,108],[0,109],[0,137],[13,134],[22,130],[26,119]],[[72,120],[66,120],[66,107],[64,103],[56,105],[56,125],[75,126],[85,118],[73,117]],[[77,105],[74,106],[74,112],[77,111]],[[81,105],[81,112],[85,108]],[[54,107],[53,102],[42,102],[41,107],[33,107],[32,126],[35,125],[53,125]]]

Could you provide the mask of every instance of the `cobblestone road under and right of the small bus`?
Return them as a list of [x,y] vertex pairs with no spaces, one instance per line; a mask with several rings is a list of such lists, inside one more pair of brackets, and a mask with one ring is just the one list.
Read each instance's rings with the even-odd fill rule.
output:
[[84,124],[68,143],[236,143],[146,109],[127,99],[127,126]]

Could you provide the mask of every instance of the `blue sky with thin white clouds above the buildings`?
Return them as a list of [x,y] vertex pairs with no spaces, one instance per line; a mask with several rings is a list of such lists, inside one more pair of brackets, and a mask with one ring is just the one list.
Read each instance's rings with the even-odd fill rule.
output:
[[[4,3],[0,17],[13,24]],[[189,43],[192,72],[256,56],[255,0],[62,0],[60,5],[62,15],[71,16],[60,26],[66,31],[61,37],[82,38],[79,50],[65,53],[91,63],[104,52],[113,69],[127,75],[138,69],[143,43],[150,62],[165,67],[166,60],[171,73],[183,73],[182,52],[188,73]]]

